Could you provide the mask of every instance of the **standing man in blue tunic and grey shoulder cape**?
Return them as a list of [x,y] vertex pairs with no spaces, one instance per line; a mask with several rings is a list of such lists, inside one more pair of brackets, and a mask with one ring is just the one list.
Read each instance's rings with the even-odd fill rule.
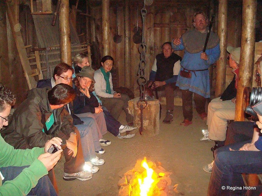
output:
[[172,49],[185,49],[176,83],[176,86],[179,86],[182,90],[184,121],[180,125],[184,126],[192,124],[193,93],[197,113],[201,119],[205,120],[207,118],[205,104],[206,98],[210,97],[208,68],[220,56],[219,37],[212,31],[210,32],[207,49],[203,52],[208,33],[207,24],[207,15],[202,11],[196,12],[193,15],[193,26],[195,28],[172,40]]

